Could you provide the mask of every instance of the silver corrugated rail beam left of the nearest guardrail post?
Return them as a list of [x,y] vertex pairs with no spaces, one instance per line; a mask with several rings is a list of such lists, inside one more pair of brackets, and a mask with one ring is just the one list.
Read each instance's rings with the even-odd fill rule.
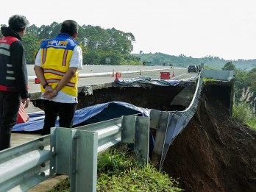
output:
[[0,191],[26,191],[48,179],[49,144],[44,136],[0,152]]

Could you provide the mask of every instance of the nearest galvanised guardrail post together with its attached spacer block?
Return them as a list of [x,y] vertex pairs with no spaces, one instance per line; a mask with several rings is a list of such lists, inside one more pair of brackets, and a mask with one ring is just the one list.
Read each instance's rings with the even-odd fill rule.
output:
[[51,174],[67,174],[71,191],[96,191],[98,133],[51,128]]

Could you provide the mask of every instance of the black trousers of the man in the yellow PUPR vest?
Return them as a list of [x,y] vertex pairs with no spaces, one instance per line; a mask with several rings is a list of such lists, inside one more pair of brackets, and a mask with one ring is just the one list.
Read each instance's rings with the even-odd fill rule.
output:
[[43,100],[43,107],[45,118],[41,135],[50,134],[51,127],[55,127],[58,115],[60,127],[71,128],[73,126],[77,103],[59,103]]

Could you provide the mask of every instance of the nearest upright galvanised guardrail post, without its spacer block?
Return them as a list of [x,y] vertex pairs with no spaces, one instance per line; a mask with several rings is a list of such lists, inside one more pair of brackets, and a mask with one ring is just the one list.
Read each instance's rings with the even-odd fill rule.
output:
[[98,133],[77,129],[71,152],[71,191],[96,192]]

